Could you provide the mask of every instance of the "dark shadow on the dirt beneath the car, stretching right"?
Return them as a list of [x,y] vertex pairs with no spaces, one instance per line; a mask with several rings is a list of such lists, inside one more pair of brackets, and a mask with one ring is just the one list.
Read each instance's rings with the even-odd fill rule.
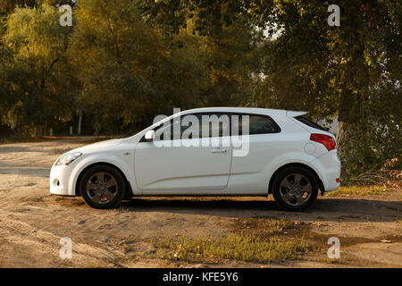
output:
[[129,212],[163,214],[209,214],[222,217],[278,217],[320,222],[396,222],[402,203],[364,198],[318,199],[304,212],[288,212],[272,200],[230,200],[230,198],[133,198],[124,201]]

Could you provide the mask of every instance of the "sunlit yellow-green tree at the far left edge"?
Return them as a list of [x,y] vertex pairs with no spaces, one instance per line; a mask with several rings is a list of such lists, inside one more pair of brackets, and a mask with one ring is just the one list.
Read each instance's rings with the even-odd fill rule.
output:
[[46,122],[71,114],[68,77],[63,72],[71,29],[61,27],[59,17],[57,9],[48,4],[16,8],[4,34],[13,55],[13,61],[4,66],[12,97],[8,120],[35,127],[38,136]]

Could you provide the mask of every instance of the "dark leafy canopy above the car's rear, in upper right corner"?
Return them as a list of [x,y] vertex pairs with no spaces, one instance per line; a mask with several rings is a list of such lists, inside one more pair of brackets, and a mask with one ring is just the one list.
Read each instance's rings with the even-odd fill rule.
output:
[[261,97],[265,105],[303,109],[317,118],[339,114],[340,122],[356,122],[373,84],[387,80],[386,74],[400,80],[395,66],[401,61],[401,5],[340,2],[340,27],[327,25],[327,6],[278,1],[269,13],[277,25],[271,33],[280,30],[281,37],[265,46]]

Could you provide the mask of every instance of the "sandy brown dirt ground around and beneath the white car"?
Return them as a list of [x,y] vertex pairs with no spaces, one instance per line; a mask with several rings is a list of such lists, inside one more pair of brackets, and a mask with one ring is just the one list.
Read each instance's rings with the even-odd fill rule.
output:
[[[402,267],[402,190],[324,196],[305,213],[284,212],[272,198],[134,198],[102,211],[81,198],[49,193],[54,160],[83,144],[68,139],[0,146],[0,267]],[[341,259],[330,263],[324,251],[270,265],[180,265],[149,256],[159,235],[226,234],[239,219],[253,217],[307,223],[308,233],[300,235],[325,245],[336,236]],[[72,240],[71,259],[59,257],[63,237]]]

